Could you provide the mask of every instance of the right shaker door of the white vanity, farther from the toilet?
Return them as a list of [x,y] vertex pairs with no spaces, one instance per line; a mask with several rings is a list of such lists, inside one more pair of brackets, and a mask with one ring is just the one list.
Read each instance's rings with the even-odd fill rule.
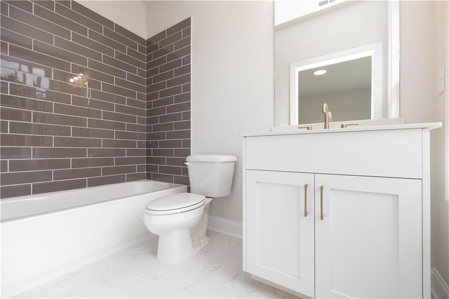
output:
[[422,298],[421,187],[315,174],[316,298]]

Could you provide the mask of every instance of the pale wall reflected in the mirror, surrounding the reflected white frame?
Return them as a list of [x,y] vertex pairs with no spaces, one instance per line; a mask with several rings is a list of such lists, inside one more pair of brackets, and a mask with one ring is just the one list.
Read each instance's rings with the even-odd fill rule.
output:
[[[402,30],[402,29],[401,29]],[[383,42],[383,107],[387,103],[388,5],[380,1],[342,4],[276,30],[275,121],[290,123],[290,63]]]

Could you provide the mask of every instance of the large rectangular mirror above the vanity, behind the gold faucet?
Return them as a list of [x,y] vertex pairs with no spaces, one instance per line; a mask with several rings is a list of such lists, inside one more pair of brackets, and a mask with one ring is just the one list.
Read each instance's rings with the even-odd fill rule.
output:
[[275,126],[399,117],[398,1],[275,1]]

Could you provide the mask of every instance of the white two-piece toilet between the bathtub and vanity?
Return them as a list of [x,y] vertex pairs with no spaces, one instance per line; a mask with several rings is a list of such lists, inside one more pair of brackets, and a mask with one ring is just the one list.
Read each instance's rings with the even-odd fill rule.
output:
[[147,205],[144,222],[159,236],[159,262],[180,264],[207,245],[209,202],[231,193],[235,161],[232,155],[190,155],[185,164],[191,193],[160,197]]

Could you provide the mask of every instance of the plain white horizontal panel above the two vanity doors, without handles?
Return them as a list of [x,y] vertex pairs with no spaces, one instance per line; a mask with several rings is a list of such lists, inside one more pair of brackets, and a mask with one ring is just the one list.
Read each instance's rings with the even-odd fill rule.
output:
[[247,137],[246,168],[422,178],[422,130]]

